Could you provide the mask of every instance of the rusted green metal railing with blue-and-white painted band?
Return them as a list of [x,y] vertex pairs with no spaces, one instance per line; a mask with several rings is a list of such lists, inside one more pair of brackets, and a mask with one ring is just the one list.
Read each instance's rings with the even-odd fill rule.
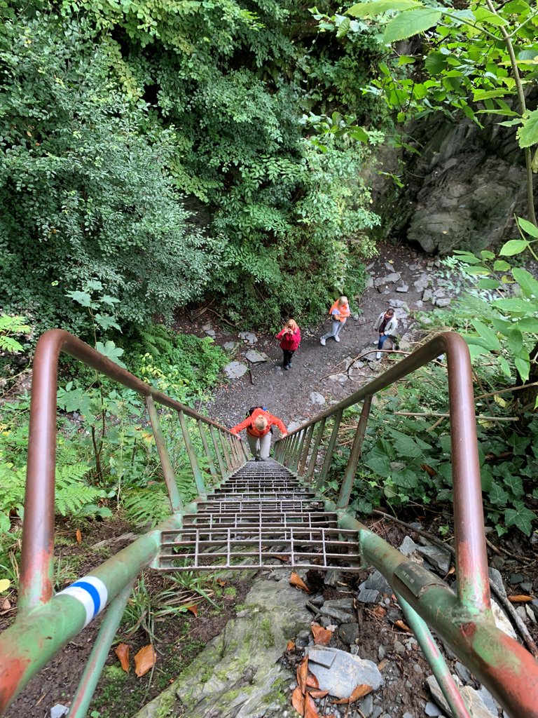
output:
[[[55,468],[57,424],[57,365],[60,353],[71,355],[136,391],[145,401],[154,431],[161,468],[169,493],[172,516],[155,531],[147,533],[127,549],[52,597],[52,561],[54,554]],[[30,409],[27,490],[24,503],[22,560],[16,623],[0,635],[0,714],[34,673],[44,666],[68,640],[80,632],[106,605],[106,640],[99,641],[90,656],[90,666],[104,663],[108,648],[126,602],[126,591],[136,575],[156,560],[160,550],[161,529],[180,528],[182,516],[196,513],[197,504],[184,506],[174,477],[166,440],[161,429],[156,404],[177,411],[185,449],[199,498],[207,495],[204,472],[192,442],[186,417],[196,421],[212,482],[218,484],[247,460],[242,442],[224,426],[198,414],[133,376],[77,337],[62,330],[46,332],[37,342],[32,377]],[[209,440],[207,433],[209,433]],[[210,449],[210,444],[212,450]],[[215,466],[216,458],[217,466]],[[47,636],[48,640],[39,639]],[[85,682],[95,679],[90,670],[82,683],[70,717],[85,715],[85,701],[79,698],[88,691]],[[87,686],[86,686],[87,687]],[[93,691],[92,691],[93,692]],[[89,694],[91,696],[91,692]],[[80,704],[80,705],[79,705]]]

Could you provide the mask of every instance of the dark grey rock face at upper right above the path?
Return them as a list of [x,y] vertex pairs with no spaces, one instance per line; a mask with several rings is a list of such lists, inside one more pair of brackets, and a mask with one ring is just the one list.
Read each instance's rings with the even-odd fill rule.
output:
[[446,118],[410,128],[420,154],[381,159],[384,171],[405,163],[405,188],[391,201],[374,189],[389,235],[430,253],[479,251],[511,237],[514,213],[525,214],[523,153],[514,132],[495,123],[479,129]]

